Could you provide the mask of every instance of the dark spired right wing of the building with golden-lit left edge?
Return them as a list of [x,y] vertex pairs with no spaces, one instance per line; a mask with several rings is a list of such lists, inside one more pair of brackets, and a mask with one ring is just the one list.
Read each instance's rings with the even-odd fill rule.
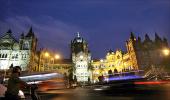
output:
[[126,41],[126,47],[132,66],[136,70],[148,70],[153,65],[161,66],[164,57],[162,50],[169,48],[167,39],[160,38],[157,33],[155,33],[154,40],[146,34],[143,41],[131,33],[130,39]]

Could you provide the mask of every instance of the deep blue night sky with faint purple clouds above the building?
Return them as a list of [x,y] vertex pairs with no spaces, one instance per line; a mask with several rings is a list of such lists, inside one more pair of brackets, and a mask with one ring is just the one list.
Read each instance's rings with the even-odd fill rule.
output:
[[69,57],[70,41],[80,32],[93,58],[109,49],[126,51],[130,32],[170,43],[170,0],[0,0],[0,34],[9,28],[16,38],[30,26],[39,47]]

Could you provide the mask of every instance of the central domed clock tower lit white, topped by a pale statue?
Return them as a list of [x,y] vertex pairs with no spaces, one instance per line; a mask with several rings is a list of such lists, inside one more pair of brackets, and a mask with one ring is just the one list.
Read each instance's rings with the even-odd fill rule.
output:
[[78,82],[87,82],[91,79],[91,72],[88,69],[91,61],[91,54],[87,42],[77,33],[71,41],[71,59],[74,67],[73,78]]

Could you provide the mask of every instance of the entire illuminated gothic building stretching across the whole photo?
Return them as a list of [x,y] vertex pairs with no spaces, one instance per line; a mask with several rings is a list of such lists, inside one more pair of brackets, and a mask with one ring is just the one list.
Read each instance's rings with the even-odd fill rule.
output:
[[[160,66],[164,55],[162,50],[168,47],[166,38],[161,39],[155,34],[151,40],[146,34],[142,41],[131,33],[126,41],[127,52],[108,51],[104,59],[91,60],[88,43],[77,36],[71,41],[71,58],[55,59],[50,50],[36,51],[37,38],[30,28],[29,32],[21,34],[17,41],[11,30],[0,37],[0,70],[8,69],[11,65],[21,66],[23,71],[55,71],[69,74],[72,69],[73,79],[78,82],[98,80],[99,76],[108,77],[109,73],[148,70],[150,66]],[[49,52],[48,56],[45,53]]]

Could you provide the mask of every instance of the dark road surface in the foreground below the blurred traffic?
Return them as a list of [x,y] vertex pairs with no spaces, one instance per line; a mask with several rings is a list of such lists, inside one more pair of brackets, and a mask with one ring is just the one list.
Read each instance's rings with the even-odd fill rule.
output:
[[170,85],[160,86],[157,90],[116,89],[109,91],[89,87],[76,89],[49,90],[39,93],[41,100],[170,100]]

